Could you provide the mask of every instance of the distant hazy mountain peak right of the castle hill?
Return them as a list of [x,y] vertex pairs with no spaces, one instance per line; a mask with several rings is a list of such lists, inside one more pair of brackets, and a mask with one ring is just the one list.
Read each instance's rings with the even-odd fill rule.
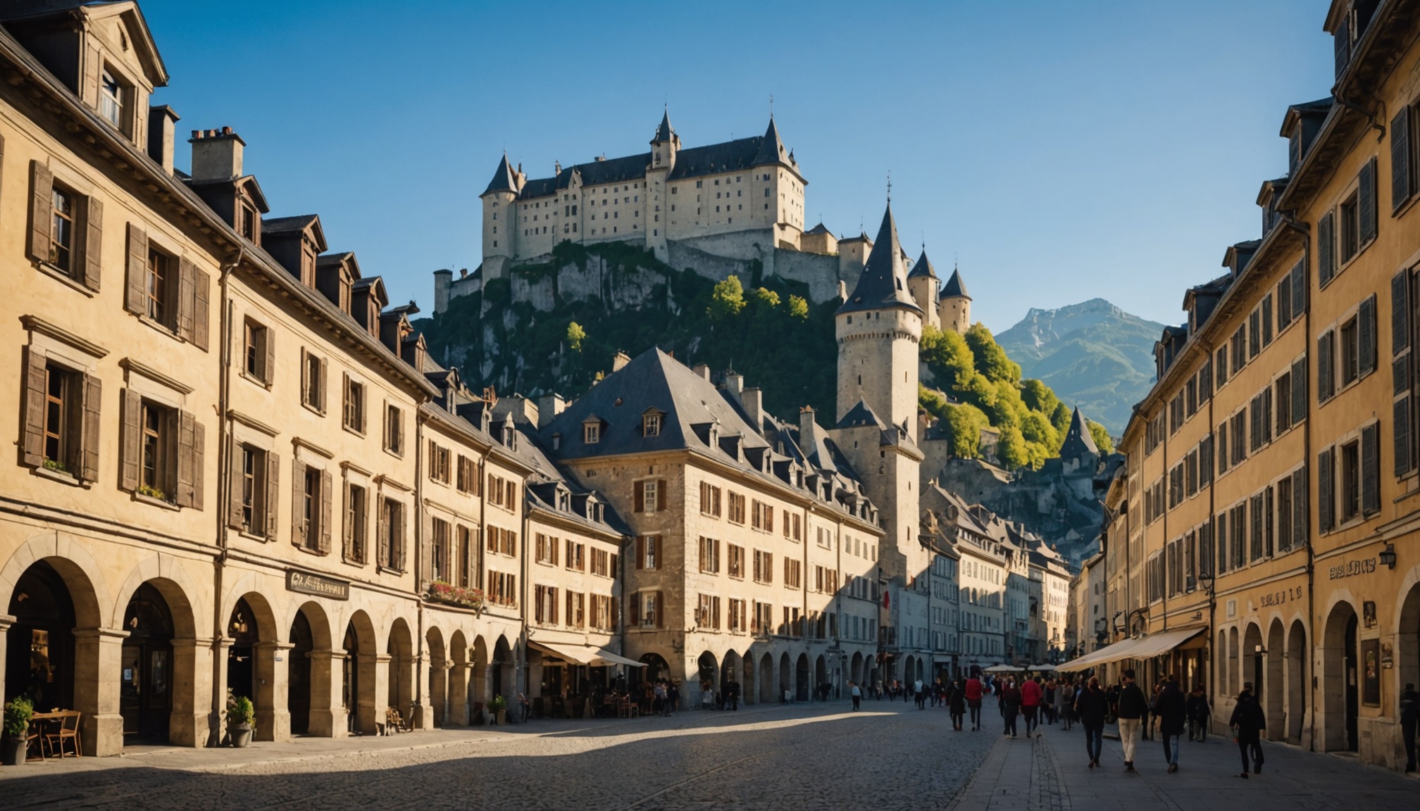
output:
[[1021,374],[1119,436],[1154,381],[1153,345],[1163,324],[1130,315],[1103,298],[1031,310],[995,337]]

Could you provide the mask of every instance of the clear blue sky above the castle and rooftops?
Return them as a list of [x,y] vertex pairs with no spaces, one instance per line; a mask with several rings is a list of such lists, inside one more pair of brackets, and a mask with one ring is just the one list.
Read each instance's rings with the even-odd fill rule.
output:
[[[1325,0],[143,0],[179,132],[230,125],[273,216],[315,212],[390,297],[480,261],[504,146],[531,176],[774,114],[839,234],[893,209],[995,331],[1105,297],[1180,320],[1254,239],[1288,104],[1332,84]],[[179,143],[178,165],[187,146]]]

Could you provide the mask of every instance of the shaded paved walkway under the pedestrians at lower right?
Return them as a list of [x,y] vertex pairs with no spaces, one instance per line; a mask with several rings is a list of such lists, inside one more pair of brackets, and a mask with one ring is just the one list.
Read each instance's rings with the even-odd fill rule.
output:
[[[988,727],[990,729],[990,727]],[[1365,766],[1355,757],[1318,754],[1264,741],[1262,774],[1247,780],[1237,746],[1213,736],[1183,740],[1179,771],[1169,774],[1163,743],[1139,741],[1137,774],[1125,773],[1118,740],[1105,739],[1102,768],[1088,768],[1085,730],[1044,727],[1038,739],[1003,737],[954,804],[956,811],[1176,811],[1316,808],[1420,808],[1420,780]]]

